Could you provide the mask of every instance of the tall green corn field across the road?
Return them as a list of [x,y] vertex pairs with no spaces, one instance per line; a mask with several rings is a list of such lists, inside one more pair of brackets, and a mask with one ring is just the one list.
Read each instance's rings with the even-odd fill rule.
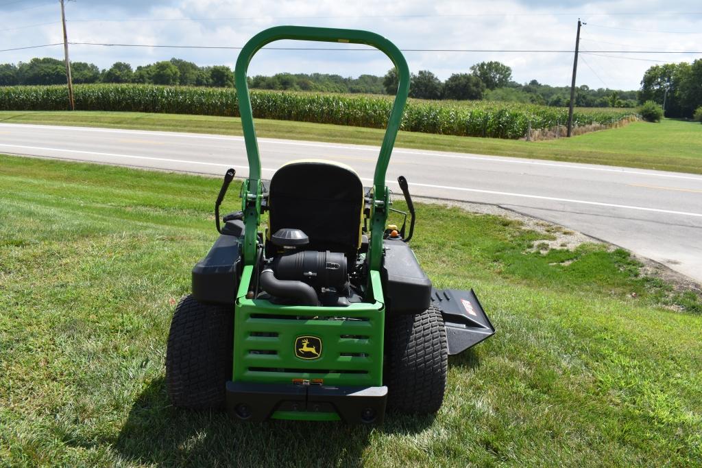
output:
[[[237,91],[145,84],[83,84],[74,86],[77,110],[162,112],[168,114],[238,117]],[[0,87],[0,110],[67,110],[66,86]],[[251,91],[253,116],[384,128],[392,97],[331,93]],[[613,126],[635,118],[634,110],[576,110],[574,126]],[[429,134],[523,138],[534,131],[567,122],[566,108],[492,101],[410,100],[402,129]]]

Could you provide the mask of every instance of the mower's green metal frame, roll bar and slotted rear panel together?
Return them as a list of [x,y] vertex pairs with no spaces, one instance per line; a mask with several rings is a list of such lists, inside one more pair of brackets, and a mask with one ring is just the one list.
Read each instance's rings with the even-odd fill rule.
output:
[[[258,228],[260,225],[262,183],[261,163],[253,125],[251,97],[246,72],[254,54],[266,44],[281,39],[326,41],[374,46],[387,55],[398,71],[399,87],[392,105],[388,129],[373,176],[371,206],[371,245],[368,296],[363,303],[347,307],[279,306],[265,299],[247,297],[255,271]],[[397,131],[402,122],[409,93],[409,68],[399,49],[382,36],[359,30],[322,27],[279,26],[252,37],[241,49],[234,71],[239,99],[241,126],[244,130],[249,178],[242,186],[244,239],[241,252],[244,266],[237,291],[234,314],[232,381],[260,384],[291,383],[292,378],[323,379],[325,384],[381,386],[383,384],[383,334],[385,300],[380,280],[383,258],[383,231],[388,221],[390,192],[385,173],[392,155]],[[309,334],[324,343],[321,356],[302,360],[296,356],[296,337]],[[277,411],[274,419],[338,420],[336,412]]]

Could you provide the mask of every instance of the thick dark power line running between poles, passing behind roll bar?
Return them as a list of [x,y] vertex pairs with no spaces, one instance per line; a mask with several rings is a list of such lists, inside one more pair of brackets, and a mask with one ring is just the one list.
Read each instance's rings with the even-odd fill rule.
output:
[[[180,46],[171,44],[117,44],[108,42],[70,42],[77,46],[107,47],[154,47],[154,48],[214,48],[240,50],[241,46]],[[338,47],[265,47],[269,51],[366,51],[378,52],[375,48],[338,48]],[[401,48],[403,52],[512,52],[512,53],[573,53],[567,49],[498,49],[498,48]],[[702,53],[702,51],[581,51],[582,53]]]

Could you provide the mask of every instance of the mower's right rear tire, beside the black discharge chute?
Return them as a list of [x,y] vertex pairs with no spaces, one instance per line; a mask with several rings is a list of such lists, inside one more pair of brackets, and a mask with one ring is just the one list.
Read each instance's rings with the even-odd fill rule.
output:
[[388,408],[406,413],[437,412],[444,402],[449,349],[439,309],[388,316],[385,332]]

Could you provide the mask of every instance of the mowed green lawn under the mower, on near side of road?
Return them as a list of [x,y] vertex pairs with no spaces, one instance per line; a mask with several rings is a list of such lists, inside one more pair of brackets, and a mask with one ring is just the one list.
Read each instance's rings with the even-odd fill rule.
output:
[[529,253],[543,234],[428,204],[420,262],[438,287],[475,288],[497,328],[449,360],[436,417],[239,424],[173,408],[168,326],[216,238],[219,185],[0,156],[0,464],[702,464],[694,294],[640,277],[622,250]]

